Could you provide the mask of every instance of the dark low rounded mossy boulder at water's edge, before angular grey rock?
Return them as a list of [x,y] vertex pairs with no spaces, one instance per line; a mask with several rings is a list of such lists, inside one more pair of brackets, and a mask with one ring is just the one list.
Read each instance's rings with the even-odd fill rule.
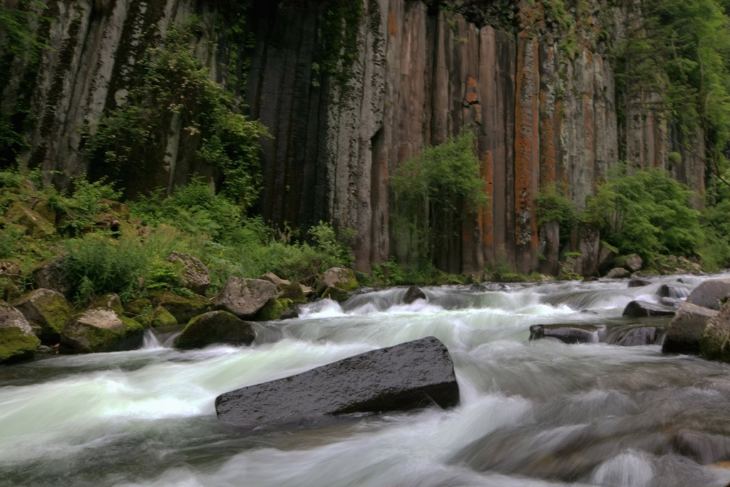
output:
[[203,348],[213,343],[227,345],[250,345],[255,333],[250,323],[227,311],[211,311],[196,316],[188,322],[175,339],[175,348],[183,350]]

